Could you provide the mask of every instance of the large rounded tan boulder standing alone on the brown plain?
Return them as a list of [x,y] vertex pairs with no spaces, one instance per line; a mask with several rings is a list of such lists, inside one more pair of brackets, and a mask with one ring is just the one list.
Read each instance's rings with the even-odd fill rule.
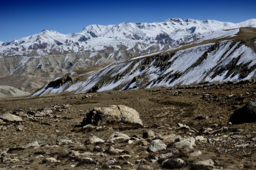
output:
[[124,105],[111,105],[109,107],[95,107],[86,114],[82,126],[106,125],[113,123],[128,123],[143,125],[139,113]]

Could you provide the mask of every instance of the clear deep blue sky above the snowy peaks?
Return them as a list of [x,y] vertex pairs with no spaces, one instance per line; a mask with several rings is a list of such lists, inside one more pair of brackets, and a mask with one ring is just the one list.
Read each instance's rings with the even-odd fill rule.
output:
[[240,23],[256,18],[256,0],[0,0],[0,41],[20,39],[43,29],[68,34],[91,24],[153,23],[167,18]]

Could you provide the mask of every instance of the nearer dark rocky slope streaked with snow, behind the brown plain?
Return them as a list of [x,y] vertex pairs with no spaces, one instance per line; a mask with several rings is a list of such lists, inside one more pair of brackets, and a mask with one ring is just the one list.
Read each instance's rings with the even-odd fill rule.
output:
[[[212,39],[214,37],[214,39]],[[219,31],[173,50],[116,61],[88,79],[45,85],[33,96],[249,80],[256,72],[256,29]]]

